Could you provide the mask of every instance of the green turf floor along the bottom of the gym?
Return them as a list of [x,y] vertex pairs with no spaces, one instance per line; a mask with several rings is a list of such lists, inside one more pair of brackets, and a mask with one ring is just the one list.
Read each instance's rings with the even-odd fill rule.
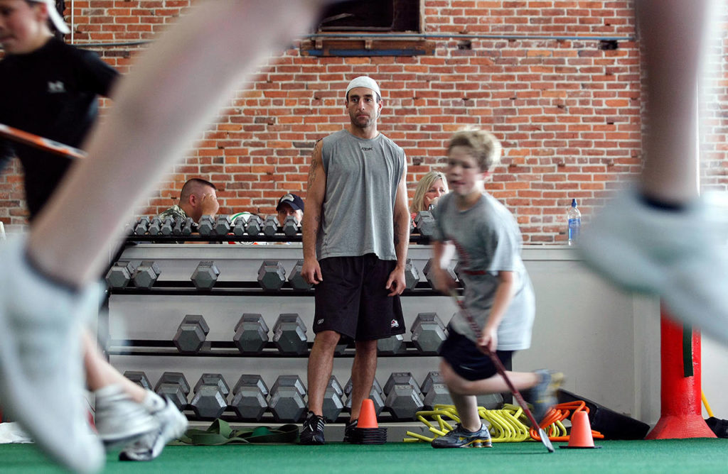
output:
[[[562,443],[557,443],[562,444]],[[491,449],[381,446],[167,446],[152,462],[119,462],[105,473],[728,473],[728,439],[598,441],[601,449],[558,449],[541,443],[497,443]],[[0,446],[0,472],[62,472],[33,445]]]

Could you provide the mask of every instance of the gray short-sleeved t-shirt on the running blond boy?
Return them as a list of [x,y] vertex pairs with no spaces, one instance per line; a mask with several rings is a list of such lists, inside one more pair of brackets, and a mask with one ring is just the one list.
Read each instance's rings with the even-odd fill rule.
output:
[[[483,193],[475,206],[465,211],[457,208],[452,193],[447,194],[440,198],[434,214],[437,221],[435,240],[452,241],[461,268],[471,272],[461,273],[465,283],[464,303],[480,328],[485,325],[493,305],[497,273],[513,271],[518,274],[513,300],[498,327],[498,349],[529,348],[536,305],[531,279],[521,260],[521,231],[513,214],[488,193]],[[456,332],[476,340],[462,313],[452,318],[451,325]]]

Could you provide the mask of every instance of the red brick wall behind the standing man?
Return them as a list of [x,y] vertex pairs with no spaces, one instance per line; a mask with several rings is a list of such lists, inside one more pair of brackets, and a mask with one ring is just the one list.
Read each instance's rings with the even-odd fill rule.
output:
[[[66,0],[74,9],[74,42],[153,39],[189,7],[186,0]],[[423,0],[425,33],[634,36],[632,1]],[[67,36],[67,39],[69,37]],[[462,126],[493,131],[504,145],[502,165],[486,187],[515,214],[527,242],[565,239],[571,198],[588,216],[609,190],[639,171],[641,70],[638,44],[619,41],[430,39],[432,55],[419,57],[302,56],[289,49],[261,68],[175,166],[137,214],[173,203],[189,177],[221,190],[221,212],[273,211],[287,191],[305,197],[315,140],[347,123],[343,91],[349,79],[379,81],[384,111],[379,129],[408,156],[408,188],[440,166],[448,137]],[[725,45],[718,44],[719,52]],[[144,47],[91,47],[126,72]],[[721,54],[716,55],[721,57]],[[719,68],[725,68],[719,60]],[[727,71],[721,71],[724,79]],[[725,81],[711,95],[705,182],[725,189]],[[24,222],[19,170],[0,177],[0,220]]]

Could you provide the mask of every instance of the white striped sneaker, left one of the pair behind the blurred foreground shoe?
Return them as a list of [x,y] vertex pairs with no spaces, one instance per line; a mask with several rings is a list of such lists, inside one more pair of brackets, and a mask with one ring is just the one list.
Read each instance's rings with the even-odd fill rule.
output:
[[106,449],[127,446],[159,428],[157,419],[116,385],[96,392],[95,425]]

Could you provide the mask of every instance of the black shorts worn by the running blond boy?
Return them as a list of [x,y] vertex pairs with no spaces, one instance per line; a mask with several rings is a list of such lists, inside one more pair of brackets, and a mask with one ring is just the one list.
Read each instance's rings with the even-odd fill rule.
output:
[[[504,366],[513,358],[513,350],[496,350]],[[440,357],[466,380],[489,379],[498,373],[491,358],[480,352],[475,342],[448,326],[448,338],[440,346]]]

